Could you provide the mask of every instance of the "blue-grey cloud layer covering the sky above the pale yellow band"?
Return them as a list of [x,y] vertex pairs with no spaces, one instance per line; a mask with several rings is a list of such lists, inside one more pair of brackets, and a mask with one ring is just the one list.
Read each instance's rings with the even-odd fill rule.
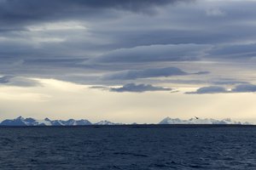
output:
[[0,74],[9,75],[0,82],[154,85],[154,77],[183,76],[177,83],[210,84],[197,93],[222,92],[216,86],[256,79],[255,7],[247,0],[0,0]]

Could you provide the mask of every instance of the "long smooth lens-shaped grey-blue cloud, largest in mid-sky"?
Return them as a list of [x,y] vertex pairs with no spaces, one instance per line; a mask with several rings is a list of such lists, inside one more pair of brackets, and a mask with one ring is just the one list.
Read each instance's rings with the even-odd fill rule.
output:
[[137,63],[152,61],[188,61],[197,60],[211,46],[201,44],[169,44],[122,48],[93,59],[97,62]]

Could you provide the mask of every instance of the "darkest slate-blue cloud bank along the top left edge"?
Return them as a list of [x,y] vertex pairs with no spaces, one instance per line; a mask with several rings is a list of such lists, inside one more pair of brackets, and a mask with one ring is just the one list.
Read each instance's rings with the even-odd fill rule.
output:
[[177,0],[2,0],[0,22],[5,25],[24,24],[38,20],[89,18],[100,10],[119,9],[151,13],[154,6],[176,3]]

